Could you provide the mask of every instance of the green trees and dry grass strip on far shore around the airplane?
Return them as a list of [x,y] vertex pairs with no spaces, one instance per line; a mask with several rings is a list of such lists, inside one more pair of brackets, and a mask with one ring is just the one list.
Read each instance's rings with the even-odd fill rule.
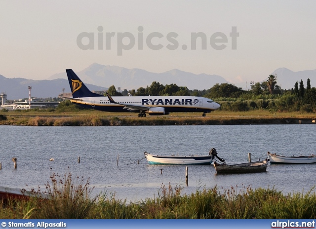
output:
[[[315,123],[316,88],[307,79],[293,82],[294,89],[284,90],[276,84],[277,76],[255,83],[242,90],[230,83],[215,84],[207,90],[189,90],[176,84],[162,85],[154,81],[146,88],[118,92],[114,85],[111,96],[201,96],[212,98],[221,107],[201,117],[202,113],[171,113],[163,116],[137,117],[137,113],[107,113],[81,108],[62,98],[40,99],[59,101],[55,108],[0,110],[0,125],[30,126],[108,126],[108,125],[234,125],[234,124],[310,124]],[[300,84],[298,86],[298,84]],[[99,91],[104,95],[104,91]],[[91,108],[93,106],[91,105]]]

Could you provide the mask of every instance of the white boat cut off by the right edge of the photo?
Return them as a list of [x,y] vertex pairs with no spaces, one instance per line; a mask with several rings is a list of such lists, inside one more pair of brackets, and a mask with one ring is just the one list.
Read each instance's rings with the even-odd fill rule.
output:
[[281,156],[268,152],[270,164],[310,164],[316,163],[316,155],[310,156]]

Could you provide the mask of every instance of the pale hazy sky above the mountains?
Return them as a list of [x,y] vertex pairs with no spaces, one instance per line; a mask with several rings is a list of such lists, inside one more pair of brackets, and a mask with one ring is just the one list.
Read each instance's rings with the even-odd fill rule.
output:
[[[0,75],[47,79],[99,63],[260,81],[281,67],[316,69],[315,10],[314,0],[2,0]],[[198,38],[193,50],[191,33],[203,34],[206,47]]]

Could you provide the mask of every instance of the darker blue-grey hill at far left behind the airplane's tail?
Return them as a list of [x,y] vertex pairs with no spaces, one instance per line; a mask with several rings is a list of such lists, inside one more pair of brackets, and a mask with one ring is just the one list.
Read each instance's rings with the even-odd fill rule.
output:
[[[103,91],[107,88],[86,84],[90,90]],[[68,79],[33,80],[25,78],[6,78],[0,75],[0,92],[5,92],[7,99],[23,99],[29,97],[29,86],[32,86],[31,96],[37,98],[58,97],[65,88],[71,92]]]

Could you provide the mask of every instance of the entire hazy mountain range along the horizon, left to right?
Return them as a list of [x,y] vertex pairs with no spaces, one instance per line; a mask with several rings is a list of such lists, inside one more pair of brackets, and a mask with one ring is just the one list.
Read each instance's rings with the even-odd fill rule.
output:
[[[142,69],[126,69],[94,63],[80,72],[73,70],[91,91],[103,91],[111,85],[115,85],[117,89],[120,87],[120,90],[137,89],[151,85],[153,81],[163,85],[175,83],[178,86],[187,86],[189,89],[203,90],[211,88],[216,83],[228,82],[222,76],[196,75],[177,69],[164,73],[151,73]],[[283,89],[291,89],[295,82],[301,79],[306,87],[308,78],[311,80],[311,85],[316,86],[316,70],[293,72],[286,68],[279,68],[272,74],[277,75],[277,84]],[[267,78],[262,81],[265,80]],[[28,86],[32,86],[31,96],[37,98],[58,97],[63,88],[65,92],[70,92],[66,72],[54,74],[46,80],[6,78],[0,75],[0,92],[5,92],[7,99],[27,98]]]

